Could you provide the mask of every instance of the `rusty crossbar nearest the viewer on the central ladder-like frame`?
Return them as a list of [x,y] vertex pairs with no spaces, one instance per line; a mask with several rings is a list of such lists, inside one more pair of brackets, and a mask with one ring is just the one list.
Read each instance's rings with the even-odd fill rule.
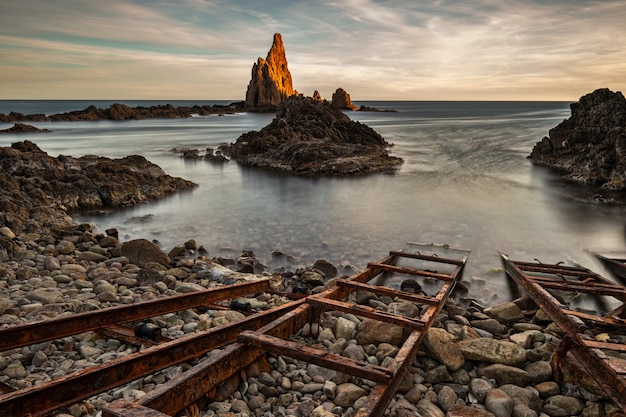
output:
[[391,372],[383,367],[366,364],[354,359],[334,355],[321,349],[315,349],[300,343],[281,339],[253,331],[242,332],[239,342],[255,346],[277,355],[285,355],[303,362],[334,369],[348,375],[357,376],[374,382],[388,384],[391,381]]

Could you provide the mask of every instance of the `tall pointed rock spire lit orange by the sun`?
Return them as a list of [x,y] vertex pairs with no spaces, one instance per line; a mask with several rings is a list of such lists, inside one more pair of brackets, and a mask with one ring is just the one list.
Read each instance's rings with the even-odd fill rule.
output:
[[252,67],[245,107],[255,111],[274,111],[276,106],[294,94],[297,92],[293,89],[283,39],[280,33],[275,33],[267,57],[259,57]]

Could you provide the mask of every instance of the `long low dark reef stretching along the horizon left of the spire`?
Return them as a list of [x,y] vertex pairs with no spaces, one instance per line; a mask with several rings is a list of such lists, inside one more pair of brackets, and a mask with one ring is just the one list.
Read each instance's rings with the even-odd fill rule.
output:
[[84,110],[76,110],[65,113],[52,114],[22,114],[11,112],[0,114],[1,123],[15,122],[59,122],[59,121],[95,121],[95,120],[143,120],[143,119],[183,119],[199,114],[208,116],[210,114],[230,114],[243,111],[243,102],[231,103],[227,106],[180,106],[174,107],[171,104],[150,106],[150,107],[130,107],[125,104],[115,103],[107,109],[98,108],[94,105]]

